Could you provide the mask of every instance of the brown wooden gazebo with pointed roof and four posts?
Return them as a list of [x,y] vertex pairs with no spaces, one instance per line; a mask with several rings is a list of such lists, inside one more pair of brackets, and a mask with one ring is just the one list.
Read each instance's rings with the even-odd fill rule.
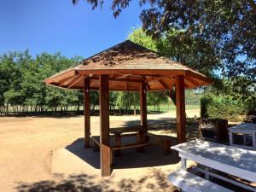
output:
[[[90,146],[90,90],[100,93],[100,146],[102,176],[110,175],[109,90],[140,92],[141,125],[147,131],[147,91],[176,90],[177,143],[186,140],[184,89],[211,84],[201,73],[158,55],[127,40],[91,56],[76,67],[68,68],[48,79],[46,84],[66,89],[84,90],[84,146]],[[102,149],[103,148],[103,149]]]

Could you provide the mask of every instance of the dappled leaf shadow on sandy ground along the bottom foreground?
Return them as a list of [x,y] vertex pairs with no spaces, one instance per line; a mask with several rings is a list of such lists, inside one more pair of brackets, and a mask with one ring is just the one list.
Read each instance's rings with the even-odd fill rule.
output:
[[147,175],[136,179],[120,179],[114,182],[112,177],[102,178],[96,182],[96,176],[71,175],[67,179],[60,182],[51,180],[40,181],[37,183],[19,183],[16,188],[20,192],[75,192],[75,191],[91,191],[91,192],[132,192],[132,191],[166,191],[177,192],[177,189],[166,180],[166,173],[156,169],[152,169]]

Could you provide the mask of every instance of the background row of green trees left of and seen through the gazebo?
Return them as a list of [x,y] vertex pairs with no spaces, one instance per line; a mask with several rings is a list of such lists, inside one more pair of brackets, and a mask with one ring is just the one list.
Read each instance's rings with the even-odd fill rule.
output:
[[[83,92],[64,90],[44,84],[43,80],[67,67],[76,65],[82,58],[68,59],[60,53],[44,53],[35,58],[25,52],[10,52],[0,55],[0,114],[56,114],[83,110]],[[191,105],[199,105],[194,98]],[[166,105],[166,92],[148,94],[148,105],[160,111],[160,104]],[[98,109],[99,95],[90,92],[90,108]],[[139,108],[139,96],[135,92],[110,92],[110,109],[129,113]],[[168,107],[167,107],[168,108]],[[166,109],[167,109],[166,108]],[[170,107],[171,108],[171,107]]]

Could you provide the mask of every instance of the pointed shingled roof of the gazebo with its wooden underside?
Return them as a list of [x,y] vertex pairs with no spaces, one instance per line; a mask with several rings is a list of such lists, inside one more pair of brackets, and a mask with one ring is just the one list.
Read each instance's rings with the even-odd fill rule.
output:
[[44,82],[67,89],[83,89],[84,78],[90,78],[90,89],[98,90],[100,74],[109,75],[109,90],[139,90],[142,81],[146,82],[148,90],[170,90],[176,75],[185,77],[188,89],[212,83],[203,74],[180,62],[129,40],[90,56],[78,66],[57,73]]

